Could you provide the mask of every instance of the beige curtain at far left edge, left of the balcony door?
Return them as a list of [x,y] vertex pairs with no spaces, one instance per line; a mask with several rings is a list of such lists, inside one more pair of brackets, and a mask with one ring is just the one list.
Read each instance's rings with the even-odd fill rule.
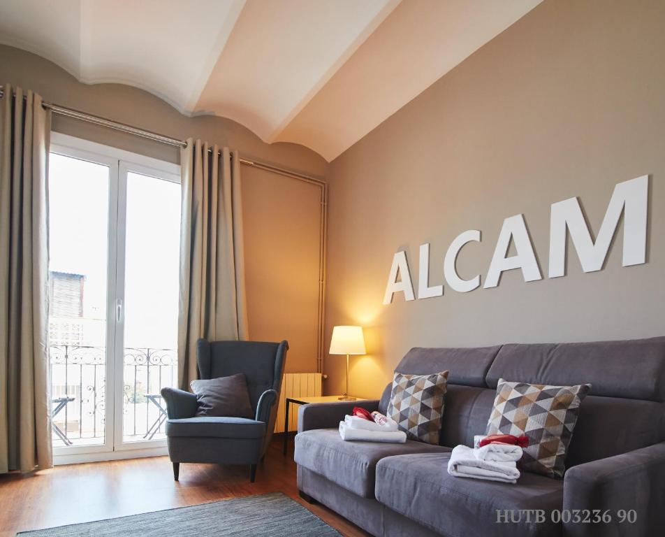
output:
[[47,162],[50,113],[0,99],[0,473],[49,468]]

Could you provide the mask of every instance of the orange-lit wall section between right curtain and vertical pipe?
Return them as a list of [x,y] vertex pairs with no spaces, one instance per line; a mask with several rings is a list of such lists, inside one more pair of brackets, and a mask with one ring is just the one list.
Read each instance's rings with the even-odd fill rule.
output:
[[286,373],[316,371],[321,189],[242,170],[249,335],[289,342]]

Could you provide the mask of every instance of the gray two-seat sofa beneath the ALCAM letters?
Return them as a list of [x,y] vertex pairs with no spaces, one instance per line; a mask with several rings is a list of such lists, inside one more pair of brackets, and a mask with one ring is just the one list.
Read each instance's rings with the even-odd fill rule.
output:
[[[339,420],[354,405],[386,413],[390,385],[376,401],[302,406],[295,438],[302,497],[325,504],[374,536],[664,534],[665,338],[414,348],[395,371],[446,369],[441,445],[339,438]],[[499,378],[592,384],[580,408],[564,479],[523,473],[509,485],[448,475],[451,448],[471,446],[474,435],[485,432]],[[587,511],[590,521],[578,521]],[[593,522],[603,515],[605,522]]]

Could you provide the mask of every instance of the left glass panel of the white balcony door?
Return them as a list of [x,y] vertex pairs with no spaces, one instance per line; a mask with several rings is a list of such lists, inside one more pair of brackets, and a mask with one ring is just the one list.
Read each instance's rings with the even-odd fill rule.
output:
[[[118,162],[79,148],[49,161],[49,341],[54,454],[113,449]],[[111,434],[110,434],[111,433]]]

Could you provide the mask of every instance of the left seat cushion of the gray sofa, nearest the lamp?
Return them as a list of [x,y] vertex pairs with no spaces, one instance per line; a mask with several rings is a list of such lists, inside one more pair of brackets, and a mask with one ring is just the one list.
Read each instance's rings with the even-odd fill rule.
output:
[[407,440],[404,444],[345,442],[337,429],[312,429],[295,436],[295,462],[350,492],[374,498],[374,475],[383,457],[446,453],[448,447]]

